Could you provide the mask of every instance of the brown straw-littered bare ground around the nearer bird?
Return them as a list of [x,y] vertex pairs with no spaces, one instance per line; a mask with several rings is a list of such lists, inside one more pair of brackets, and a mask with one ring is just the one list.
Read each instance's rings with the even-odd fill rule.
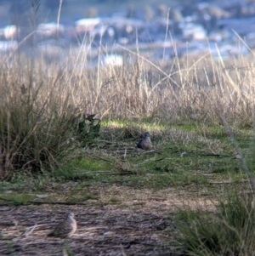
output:
[[[1,207],[0,255],[181,255],[170,246],[176,232],[173,212],[192,205],[213,209],[212,202],[174,189],[105,186],[90,191],[97,192],[99,199],[87,201],[88,206]],[[48,237],[67,212],[75,213],[75,235],[66,240]]]

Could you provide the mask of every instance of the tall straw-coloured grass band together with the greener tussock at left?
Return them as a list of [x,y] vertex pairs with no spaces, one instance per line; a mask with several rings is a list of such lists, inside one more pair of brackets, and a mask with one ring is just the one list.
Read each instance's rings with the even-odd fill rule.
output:
[[51,65],[18,51],[3,62],[2,175],[9,168],[33,170],[31,162],[41,170],[52,169],[68,159],[78,149],[68,145],[74,136],[74,118],[85,113],[111,119],[156,117],[174,123],[188,118],[252,126],[254,67],[245,58],[229,60],[228,65],[215,63],[209,55],[153,63],[139,51],[126,50],[132,57],[121,66],[101,65],[99,58],[97,68],[89,68],[89,50],[84,48],[71,49],[65,60],[59,54]]

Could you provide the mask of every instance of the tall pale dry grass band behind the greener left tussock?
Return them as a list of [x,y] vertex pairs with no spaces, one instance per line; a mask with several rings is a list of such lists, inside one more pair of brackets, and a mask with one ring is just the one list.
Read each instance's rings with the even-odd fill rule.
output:
[[[84,46],[81,46],[81,49]],[[129,53],[130,54],[130,53]],[[2,100],[20,101],[20,86],[37,92],[43,103],[54,99],[61,111],[99,113],[100,117],[207,118],[219,113],[239,122],[251,122],[254,67],[246,59],[215,63],[211,56],[176,58],[160,64],[139,53],[122,66],[86,68],[88,52],[71,51],[63,65],[16,56],[2,66]],[[230,62],[231,61],[231,62]],[[99,61],[100,62],[100,61]],[[7,103],[7,102],[6,102]]]

